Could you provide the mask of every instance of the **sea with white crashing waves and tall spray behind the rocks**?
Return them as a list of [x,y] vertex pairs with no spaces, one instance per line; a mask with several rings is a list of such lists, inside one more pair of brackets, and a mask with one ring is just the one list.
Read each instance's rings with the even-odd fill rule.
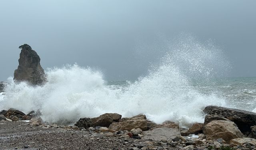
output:
[[192,37],[177,41],[134,81],[107,81],[100,70],[77,64],[48,68],[44,86],[15,84],[10,77],[0,109],[40,110],[44,121],[58,124],[107,112],[142,113],[184,127],[204,122],[202,110],[209,105],[256,111],[256,78],[224,78],[231,67],[222,50]]

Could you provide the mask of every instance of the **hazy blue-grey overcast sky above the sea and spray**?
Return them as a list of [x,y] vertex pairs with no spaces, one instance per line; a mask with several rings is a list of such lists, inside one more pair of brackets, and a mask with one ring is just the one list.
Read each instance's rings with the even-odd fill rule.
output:
[[182,32],[222,47],[229,76],[256,76],[255,8],[255,0],[1,0],[0,81],[13,76],[24,43],[44,69],[77,62],[106,80],[133,80],[164,51],[162,40]]

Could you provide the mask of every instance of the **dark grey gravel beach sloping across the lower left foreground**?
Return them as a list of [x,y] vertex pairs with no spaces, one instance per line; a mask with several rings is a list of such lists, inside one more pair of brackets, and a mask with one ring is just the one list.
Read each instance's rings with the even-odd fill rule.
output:
[[23,121],[0,121],[0,150],[135,150],[146,145],[147,142],[142,139],[125,139],[73,129],[42,128]]

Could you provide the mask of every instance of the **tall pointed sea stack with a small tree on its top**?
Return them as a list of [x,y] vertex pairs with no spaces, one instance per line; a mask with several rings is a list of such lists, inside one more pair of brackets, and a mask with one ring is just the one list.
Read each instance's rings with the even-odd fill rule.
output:
[[42,85],[46,81],[44,69],[40,65],[40,57],[28,44],[21,49],[19,66],[14,71],[14,82],[26,81],[31,85]]

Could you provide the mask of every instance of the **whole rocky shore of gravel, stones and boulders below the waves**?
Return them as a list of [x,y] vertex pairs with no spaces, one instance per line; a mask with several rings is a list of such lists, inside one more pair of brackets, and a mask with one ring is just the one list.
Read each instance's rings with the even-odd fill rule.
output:
[[47,124],[40,112],[0,112],[0,149],[30,150],[256,150],[256,113],[207,106],[204,123],[189,129],[144,114],[106,113],[80,118],[74,126]]

